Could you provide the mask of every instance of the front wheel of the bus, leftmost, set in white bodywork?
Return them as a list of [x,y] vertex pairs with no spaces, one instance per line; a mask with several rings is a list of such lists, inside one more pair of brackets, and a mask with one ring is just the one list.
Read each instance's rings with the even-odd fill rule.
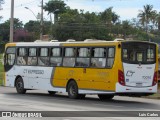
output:
[[19,94],[25,94],[26,93],[26,89],[24,89],[23,79],[21,77],[19,77],[16,80],[16,85],[15,86],[16,86],[17,93],[19,93]]

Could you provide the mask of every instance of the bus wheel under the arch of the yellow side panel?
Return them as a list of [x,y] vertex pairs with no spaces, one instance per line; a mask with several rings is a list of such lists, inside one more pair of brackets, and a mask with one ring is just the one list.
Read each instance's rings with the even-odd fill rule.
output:
[[68,84],[68,96],[69,98],[72,98],[72,99],[79,98],[78,86],[75,81],[71,81]]

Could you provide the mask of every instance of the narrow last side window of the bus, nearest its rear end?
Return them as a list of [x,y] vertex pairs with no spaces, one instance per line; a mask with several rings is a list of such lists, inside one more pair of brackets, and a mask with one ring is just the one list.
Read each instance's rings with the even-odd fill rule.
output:
[[107,67],[112,67],[115,57],[115,48],[108,48]]

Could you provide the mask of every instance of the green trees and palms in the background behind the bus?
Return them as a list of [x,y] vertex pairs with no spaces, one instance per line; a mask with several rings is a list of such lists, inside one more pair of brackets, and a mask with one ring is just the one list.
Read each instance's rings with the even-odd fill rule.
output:
[[[118,37],[160,42],[160,12],[154,10],[152,5],[144,5],[137,18],[124,21],[120,21],[120,16],[113,11],[113,7],[99,13],[84,12],[71,9],[62,0],[50,0],[45,4],[44,10],[54,14],[55,21],[54,24],[44,21],[43,34],[51,35],[60,41],[91,38],[112,40]],[[39,39],[39,21],[29,21],[23,27],[22,22],[15,19],[14,28],[24,28],[32,36],[31,39]],[[19,39],[25,41],[24,38]],[[0,24],[0,40],[9,40],[9,20]]]

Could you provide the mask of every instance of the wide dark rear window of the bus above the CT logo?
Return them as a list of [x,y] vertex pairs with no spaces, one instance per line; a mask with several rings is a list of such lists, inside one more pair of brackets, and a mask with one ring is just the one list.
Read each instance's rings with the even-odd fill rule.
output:
[[141,42],[122,43],[122,61],[131,64],[154,64],[156,45]]

